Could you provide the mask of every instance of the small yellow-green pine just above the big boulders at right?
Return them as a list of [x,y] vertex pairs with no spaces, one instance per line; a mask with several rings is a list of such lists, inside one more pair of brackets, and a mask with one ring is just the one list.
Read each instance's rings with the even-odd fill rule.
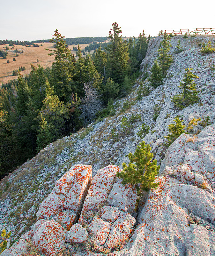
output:
[[169,124],[167,131],[169,134],[165,136],[167,138],[167,147],[169,147],[182,133],[185,133],[185,125],[182,125],[182,121],[179,116],[175,116],[175,124]]

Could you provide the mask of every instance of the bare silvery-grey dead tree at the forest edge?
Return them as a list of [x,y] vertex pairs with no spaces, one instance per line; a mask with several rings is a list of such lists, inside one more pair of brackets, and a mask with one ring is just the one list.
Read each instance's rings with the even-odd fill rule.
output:
[[81,99],[82,105],[80,109],[82,113],[80,119],[84,120],[84,125],[90,124],[92,119],[96,117],[99,110],[102,109],[101,95],[96,88],[93,88],[93,82],[84,82],[85,98]]

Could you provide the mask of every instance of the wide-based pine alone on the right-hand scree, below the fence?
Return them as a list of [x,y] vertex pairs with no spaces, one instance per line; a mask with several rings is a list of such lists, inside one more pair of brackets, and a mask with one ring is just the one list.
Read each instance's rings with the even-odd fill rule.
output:
[[181,80],[182,82],[179,85],[179,88],[182,89],[182,93],[171,98],[171,101],[179,109],[188,107],[190,104],[194,104],[199,100],[196,83],[194,82],[194,78],[198,78],[198,76],[191,72],[193,68],[184,68],[184,70],[184,78]]

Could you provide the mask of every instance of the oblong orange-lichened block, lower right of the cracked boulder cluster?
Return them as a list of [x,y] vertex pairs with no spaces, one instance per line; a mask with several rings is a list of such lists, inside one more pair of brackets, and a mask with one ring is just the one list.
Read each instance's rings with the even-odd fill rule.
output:
[[130,236],[136,220],[128,212],[121,212],[117,220],[111,226],[105,247],[112,249],[123,243]]

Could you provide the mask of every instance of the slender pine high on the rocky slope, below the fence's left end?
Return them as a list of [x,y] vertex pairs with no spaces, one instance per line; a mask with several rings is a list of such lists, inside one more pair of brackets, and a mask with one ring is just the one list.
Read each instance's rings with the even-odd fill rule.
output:
[[162,68],[163,76],[166,76],[167,70],[173,62],[172,55],[167,54],[170,50],[170,47],[172,46],[170,44],[170,37],[168,35],[164,35],[164,39],[160,42],[160,44],[161,48],[158,50],[158,62],[160,64],[160,67]]

